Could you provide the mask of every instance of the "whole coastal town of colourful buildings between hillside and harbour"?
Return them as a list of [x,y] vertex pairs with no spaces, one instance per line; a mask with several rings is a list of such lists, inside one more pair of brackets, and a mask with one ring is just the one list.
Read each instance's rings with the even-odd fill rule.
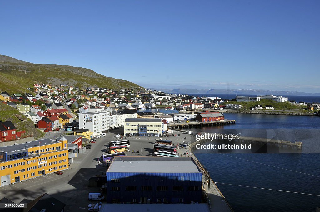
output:
[[[0,94],[3,107],[12,107],[19,111],[20,115],[15,115],[16,117],[28,118],[36,130],[43,133],[43,137],[35,138],[28,133],[28,130],[18,131],[18,126],[10,120],[0,122],[0,142],[3,142],[0,147],[0,189],[4,192],[2,197],[5,191],[11,190],[10,186],[18,188],[18,185],[28,185],[27,182],[45,181],[47,180],[44,179],[45,176],[54,176],[53,178],[58,180],[60,175],[71,175],[78,171],[76,175],[86,174],[88,178],[87,183],[90,189],[84,189],[84,191],[90,193],[89,200],[97,198],[99,201],[107,201],[108,206],[105,206],[105,203],[94,205],[88,202],[88,208],[92,211],[99,209],[104,211],[103,208],[113,207],[110,203],[121,202],[167,203],[168,205],[196,202],[201,204],[195,204],[192,207],[203,211],[213,211],[213,209],[232,211],[228,201],[204,171],[205,167],[192,154],[191,147],[195,141],[193,133],[183,128],[179,130],[179,127],[201,123],[234,124],[236,120],[225,119],[223,113],[276,111],[283,107],[279,104],[286,104],[287,108],[284,109],[302,111],[301,113],[310,115],[317,115],[320,109],[319,103],[316,102],[289,102],[287,97],[274,95],[236,96],[234,99],[222,99],[218,96],[167,94],[142,88],[140,91],[127,89],[114,91],[98,87],[83,90],[66,84],[51,86],[41,83],[35,84],[28,90],[30,92],[24,94],[9,94],[5,91]],[[156,140],[156,143],[150,144],[150,139]],[[102,152],[98,150],[103,147],[107,149]],[[125,155],[127,157],[116,157]],[[162,157],[149,157],[154,155]],[[89,156],[87,160],[91,163],[81,162],[86,156]],[[181,156],[181,158],[178,159],[175,156]],[[92,167],[92,162],[97,167],[90,173],[81,173],[81,170],[78,170],[78,163],[83,163],[85,168],[85,165]],[[119,169],[123,166],[122,162],[135,163],[136,169],[130,170],[132,169],[130,166],[125,166],[127,167],[125,170]],[[159,166],[159,163],[163,167]],[[154,171],[150,170],[152,168],[147,168],[155,166],[158,168]],[[181,170],[173,168],[180,166]],[[160,176],[161,173],[166,172],[168,175],[163,179],[165,183],[161,185],[155,184],[156,179],[150,177],[149,184],[141,187],[141,194],[132,195],[132,191],[140,190],[139,183],[124,183],[121,186],[117,184],[123,180],[121,179],[123,172],[132,171],[140,172],[141,176],[147,172],[156,173],[152,176]],[[173,175],[177,175],[173,172],[179,172],[179,177],[175,177],[176,180],[169,180]],[[180,178],[191,177],[187,174],[189,172],[197,175],[196,178],[192,177],[194,182],[179,185]],[[79,177],[76,175],[74,177]],[[130,176],[127,175],[125,178],[129,177],[141,182],[140,175]],[[59,184],[59,181],[57,183]],[[168,188],[171,184],[172,189]],[[28,186],[37,189],[36,185]],[[100,187],[100,189],[91,187]],[[39,205],[44,204],[40,204],[41,201],[46,202],[45,196],[50,196],[48,194],[50,189],[52,189],[51,186],[48,186],[48,192],[40,196]],[[162,192],[161,194],[150,193],[153,190]],[[83,194],[82,203],[88,198],[88,193]],[[15,197],[18,194],[12,195]],[[15,197],[15,199],[19,198]],[[221,204],[218,200],[224,202]],[[2,202],[6,201],[11,200],[2,199]],[[68,202],[63,202],[59,198],[55,201],[58,207],[55,211],[63,211],[65,207],[68,207],[68,210],[75,207],[73,204],[69,206]],[[20,204],[23,201],[12,203]],[[26,206],[29,207],[28,204],[26,202]],[[181,206],[181,209],[183,207]]]

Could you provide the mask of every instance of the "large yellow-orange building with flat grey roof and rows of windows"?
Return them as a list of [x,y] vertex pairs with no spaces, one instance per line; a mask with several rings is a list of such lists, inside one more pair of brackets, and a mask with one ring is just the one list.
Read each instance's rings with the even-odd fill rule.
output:
[[[16,150],[14,150],[16,149]],[[68,141],[35,140],[0,148],[0,186],[68,169]]]

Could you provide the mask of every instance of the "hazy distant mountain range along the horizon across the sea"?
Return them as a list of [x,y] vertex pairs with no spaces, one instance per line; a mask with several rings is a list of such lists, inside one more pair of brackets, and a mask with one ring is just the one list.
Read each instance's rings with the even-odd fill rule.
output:
[[177,89],[158,89],[149,88],[151,90],[160,90],[166,93],[178,93],[178,94],[234,94],[234,95],[281,95],[281,96],[320,96],[320,93],[306,93],[299,91],[273,91],[273,90],[255,90],[255,89],[210,89],[210,90],[198,90],[189,88],[177,88]]

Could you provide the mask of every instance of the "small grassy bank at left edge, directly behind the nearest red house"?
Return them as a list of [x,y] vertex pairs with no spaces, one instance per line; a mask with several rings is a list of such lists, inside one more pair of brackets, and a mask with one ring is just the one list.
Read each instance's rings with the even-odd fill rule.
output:
[[33,135],[35,139],[44,135],[43,132],[35,128],[34,123],[23,116],[18,110],[0,102],[0,120],[11,121],[17,128],[17,131],[26,131],[26,135]]

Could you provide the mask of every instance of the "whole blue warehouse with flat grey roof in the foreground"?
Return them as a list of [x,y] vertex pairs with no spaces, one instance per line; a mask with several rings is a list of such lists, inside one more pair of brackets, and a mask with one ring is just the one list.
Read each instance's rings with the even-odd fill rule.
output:
[[115,157],[107,170],[108,203],[201,202],[202,172],[192,157]]

